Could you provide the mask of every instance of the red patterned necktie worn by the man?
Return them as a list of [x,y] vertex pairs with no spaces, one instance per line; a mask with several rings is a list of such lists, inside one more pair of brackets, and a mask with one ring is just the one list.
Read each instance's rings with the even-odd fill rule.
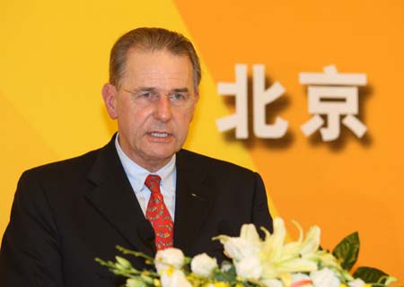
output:
[[162,200],[162,193],[160,192],[161,180],[162,178],[152,174],[145,179],[145,186],[152,192],[147,204],[145,217],[153,225],[157,250],[172,248],[174,233],[171,215]]

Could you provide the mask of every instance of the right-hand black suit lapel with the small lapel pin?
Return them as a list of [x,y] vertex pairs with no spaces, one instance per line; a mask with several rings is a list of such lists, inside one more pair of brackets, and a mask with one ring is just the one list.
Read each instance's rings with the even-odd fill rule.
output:
[[187,161],[185,152],[178,152],[177,187],[174,220],[174,247],[187,255],[206,220],[211,206],[206,173]]

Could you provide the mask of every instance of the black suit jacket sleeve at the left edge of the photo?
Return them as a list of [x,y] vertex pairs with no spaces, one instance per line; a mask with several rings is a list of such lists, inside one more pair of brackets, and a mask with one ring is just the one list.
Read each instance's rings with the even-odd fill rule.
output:
[[63,286],[56,223],[35,171],[17,186],[0,250],[0,286]]

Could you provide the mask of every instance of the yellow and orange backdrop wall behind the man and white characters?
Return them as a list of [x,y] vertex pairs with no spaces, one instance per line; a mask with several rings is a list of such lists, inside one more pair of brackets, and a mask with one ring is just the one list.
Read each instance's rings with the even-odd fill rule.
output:
[[[8,222],[23,170],[66,159],[106,143],[115,131],[102,107],[113,42],[127,30],[161,26],[196,44],[203,61],[201,100],[186,147],[233,161],[264,178],[270,206],[307,229],[322,246],[358,230],[359,265],[404,278],[404,2],[385,1],[78,1],[0,4],[0,233]],[[264,64],[268,84],[285,94],[268,106],[269,120],[289,122],[280,140],[235,140],[215,119],[233,112],[216,93],[234,81],[234,65]],[[359,118],[363,139],[345,126],[338,141],[306,138],[300,72],[337,65],[365,73]],[[293,233],[294,234],[294,233]]]

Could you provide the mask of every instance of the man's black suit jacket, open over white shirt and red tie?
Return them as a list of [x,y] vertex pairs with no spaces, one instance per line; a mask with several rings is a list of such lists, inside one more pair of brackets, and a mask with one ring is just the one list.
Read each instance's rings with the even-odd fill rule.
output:
[[[259,174],[185,150],[176,166],[174,247],[186,256],[223,259],[211,238],[238,235],[243,223],[272,230]],[[0,250],[0,286],[117,286],[94,258],[113,260],[116,245],[153,255],[145,227],[114,138],[100,150],[25,171]]]

